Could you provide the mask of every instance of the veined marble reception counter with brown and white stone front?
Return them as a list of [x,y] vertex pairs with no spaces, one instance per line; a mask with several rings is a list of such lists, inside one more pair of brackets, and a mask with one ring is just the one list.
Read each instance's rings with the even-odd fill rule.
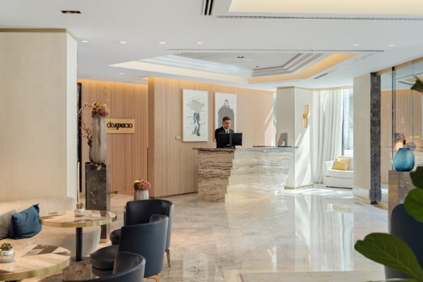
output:
[[219,202],[269,197],[264,191],[283,189],[295,148],[194,148],[198,197]]

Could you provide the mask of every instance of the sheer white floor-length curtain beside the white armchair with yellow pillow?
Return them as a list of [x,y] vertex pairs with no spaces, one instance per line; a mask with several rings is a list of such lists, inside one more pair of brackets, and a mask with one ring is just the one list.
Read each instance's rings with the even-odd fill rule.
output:
[[[322,90],[313,95],[312,177],[323,183],[324,161],[333,161],[342,152],[343,92],[351,90]],[[311,113],[310,113],[311,114]]]

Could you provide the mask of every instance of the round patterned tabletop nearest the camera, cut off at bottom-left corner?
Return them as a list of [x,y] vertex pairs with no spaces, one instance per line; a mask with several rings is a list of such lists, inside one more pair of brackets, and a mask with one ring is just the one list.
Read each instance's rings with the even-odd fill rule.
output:
[[43,276],[71,264],[71,251],[63,247],[13,244],[13,249],[15,260],[0,264],[0,281]]

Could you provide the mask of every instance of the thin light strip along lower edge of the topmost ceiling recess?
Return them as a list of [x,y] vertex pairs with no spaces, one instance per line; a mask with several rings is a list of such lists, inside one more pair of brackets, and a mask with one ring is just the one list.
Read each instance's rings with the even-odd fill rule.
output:
[[423,18],[345,18],[345,17],[278,17],[278,16],[216,16],[235,19],[276,19],[276,20],[423,20]]

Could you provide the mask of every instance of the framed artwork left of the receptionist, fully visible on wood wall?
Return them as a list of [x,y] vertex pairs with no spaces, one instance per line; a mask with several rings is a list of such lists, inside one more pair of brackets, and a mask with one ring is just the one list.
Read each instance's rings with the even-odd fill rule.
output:
[[209,140],[209,92],[182,90],[183,142]]

